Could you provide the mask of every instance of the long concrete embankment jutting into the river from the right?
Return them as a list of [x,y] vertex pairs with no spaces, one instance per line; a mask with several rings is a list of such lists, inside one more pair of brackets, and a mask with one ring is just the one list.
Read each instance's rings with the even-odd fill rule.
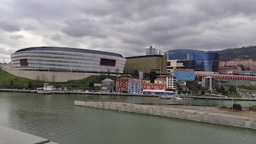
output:
[[86,106],[114,111],[143,113],[153,116],[180,118],[191,121],[216,123],[226,126],[256,129],[256,113],[220,111],[206,106],[146,105],[122,102],[75,101],[75,106]]

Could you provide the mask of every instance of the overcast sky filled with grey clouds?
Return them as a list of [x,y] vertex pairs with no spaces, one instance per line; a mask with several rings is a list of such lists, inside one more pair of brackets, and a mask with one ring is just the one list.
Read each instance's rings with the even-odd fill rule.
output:
[[124,57],[144,55],[149,45],[164,52],[240,48],[256,43],[255,6],[255,0],[1,0],[0,57],[36,46]]

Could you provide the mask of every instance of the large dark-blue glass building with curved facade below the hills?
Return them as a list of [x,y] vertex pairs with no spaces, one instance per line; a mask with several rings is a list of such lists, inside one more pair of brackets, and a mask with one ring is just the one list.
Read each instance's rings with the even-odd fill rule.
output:
[[190,52],[184,61],[186,68],[195,71],[218,72],[219,54],[216,52]]

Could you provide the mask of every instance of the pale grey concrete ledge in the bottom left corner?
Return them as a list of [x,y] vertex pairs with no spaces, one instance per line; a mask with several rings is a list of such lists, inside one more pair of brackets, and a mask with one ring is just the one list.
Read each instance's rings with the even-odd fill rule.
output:
[[46,144],[57,144],[50,142],[46,138],[40,138],[36,135],[31,135],[21,131],[14,130],[12,128],[6,128],[0,126],[0,144],[33,144],[33,143],[46,143]]

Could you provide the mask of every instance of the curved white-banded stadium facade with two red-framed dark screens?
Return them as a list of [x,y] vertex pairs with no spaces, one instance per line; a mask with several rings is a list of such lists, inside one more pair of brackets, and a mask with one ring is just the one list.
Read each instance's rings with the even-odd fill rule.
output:
[[112,52],[78,48],[35,47],[11,55],[14,70],[122,73],[125,58]]

